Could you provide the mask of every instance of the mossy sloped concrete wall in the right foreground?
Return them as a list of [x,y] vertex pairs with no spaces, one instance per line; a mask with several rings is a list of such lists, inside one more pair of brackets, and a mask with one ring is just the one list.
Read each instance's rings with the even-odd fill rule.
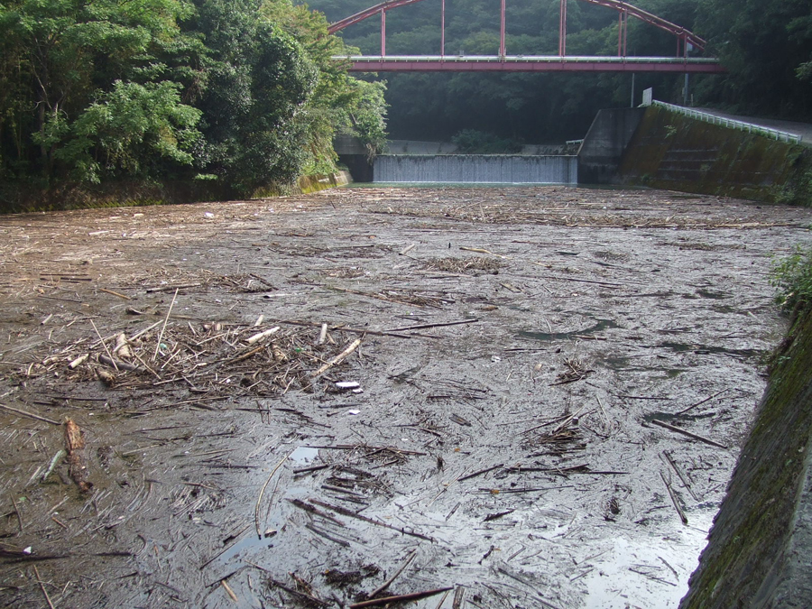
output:
[[812,607],[812,312],[770,383],[680,609]]

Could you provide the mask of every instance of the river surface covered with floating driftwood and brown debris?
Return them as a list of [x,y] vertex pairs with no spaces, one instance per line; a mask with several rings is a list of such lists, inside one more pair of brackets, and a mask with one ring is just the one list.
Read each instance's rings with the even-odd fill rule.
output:
[[549,187],[4,217],[0,604],[675,607],[810,222]]

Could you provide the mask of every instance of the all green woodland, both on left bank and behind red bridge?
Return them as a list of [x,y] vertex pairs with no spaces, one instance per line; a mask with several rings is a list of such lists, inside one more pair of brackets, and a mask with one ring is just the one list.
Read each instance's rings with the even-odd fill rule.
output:
[[[374,0],[6,0],[0,4],[0,196],[9,189],[141,180],[247,196],[335,169],[333,136],[374,153],[393,138],[471,148],[583,137],[595,111],[632,103],[630,75],[346,72],[335,56],[380,52],[371,19],[328,23]],[[495,54],[499,0],[447,0],[449,54]],[[703,35],[730,70],[692,78],[693,103],[812,118],[808,0],[638,0]],[[507,50],[558,51],[558,0],[507,0]],[[388,16],[390,54],[438,54],[438,0]],[[567,52],[616,52],[616,14],[570,0]],[[634,20],[628,52],[672,55]],[[639,74],[635,92],[681,101],[681,76]],[[385,101],[384,101],[385,92]],[[477,139],[479,138],[479,139]]]

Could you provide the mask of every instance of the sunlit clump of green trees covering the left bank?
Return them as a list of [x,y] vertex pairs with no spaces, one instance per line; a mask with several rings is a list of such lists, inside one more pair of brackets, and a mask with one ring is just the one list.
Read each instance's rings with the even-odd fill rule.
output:
[[[350,78],[290,0],[0,4],[0,180],[202,180],[250,195],[384,138],[383,85]],[[222,190],[221,190],[222,191]]]

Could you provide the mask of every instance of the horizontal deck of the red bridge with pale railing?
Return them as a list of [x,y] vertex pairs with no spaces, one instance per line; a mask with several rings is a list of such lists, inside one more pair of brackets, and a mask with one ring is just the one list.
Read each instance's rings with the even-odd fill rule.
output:
[[678,72],[720,74],[719,61],[682,57],[577,57],[560,55],[355,55],[337,57],[356,72]]

